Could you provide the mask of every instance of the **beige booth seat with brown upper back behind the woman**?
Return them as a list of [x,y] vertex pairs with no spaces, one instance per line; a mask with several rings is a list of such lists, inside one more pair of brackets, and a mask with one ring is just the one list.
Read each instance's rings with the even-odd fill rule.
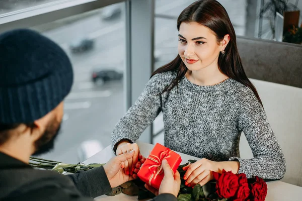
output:
[[[256,86],[286,159],[282,181],[302,186],[302,45],[238,37],[245,71]],[[253,157],[244,135],[241,157]]]

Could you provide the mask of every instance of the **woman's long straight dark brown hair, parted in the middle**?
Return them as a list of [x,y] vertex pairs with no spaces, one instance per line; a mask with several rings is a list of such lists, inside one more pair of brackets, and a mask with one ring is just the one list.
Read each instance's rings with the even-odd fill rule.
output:
[[[219,54],[218,57],[218,68],[222,73],[231,77],[232,79],[250,87],[256,97],[258,98],[260,104],[262,105],[261,99],[255,86],[247,77],[244,68],[242,66],[241,58],[239,56],[236,34],[234,27],[231,23],[228,13],[225,11],[223,6],[215,0],[200,0],[196,1],[190,6],[188,6],[179,15],[177,19],[177,30],[181,23],[197,22],[210,30],[212,30],[217,37],[217,41],[221,41],[225,35],[230,35],[229,44],[224,49],[225,53]],[[177,71],[176,78],[167,86],[163,92],[170,91],[178,82],[185,76],[187,72],[187,67],[182,61],[181,57],[177,57],[170,63],[158,68],[152,76],[157,73],[167,72],[167,71]]]

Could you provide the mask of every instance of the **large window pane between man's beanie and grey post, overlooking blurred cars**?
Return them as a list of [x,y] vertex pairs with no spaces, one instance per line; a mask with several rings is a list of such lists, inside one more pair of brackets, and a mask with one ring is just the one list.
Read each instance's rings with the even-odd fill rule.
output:
[[125,3],[32,29],[58,43],[74,70],[55,148],[39,157],[82,162],[110,145],[111,132],[124,115]]

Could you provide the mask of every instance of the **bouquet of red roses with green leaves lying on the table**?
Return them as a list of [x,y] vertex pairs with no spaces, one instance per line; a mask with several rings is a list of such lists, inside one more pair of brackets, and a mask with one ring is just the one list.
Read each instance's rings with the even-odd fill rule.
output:
[[181,175],[180,192],[177,199],[180,201],[191,200],[233,200],[233,201],[262,201],[265,200],[267,185],[262,178],[247,179],[246,174],[234,174],[231,171],[222,173],[213,172],[214,180],[200,186],[200,184],[187,187],[182,169],[189,163],[196,160],[189,160],[187,164],[180,165],[178,171]]

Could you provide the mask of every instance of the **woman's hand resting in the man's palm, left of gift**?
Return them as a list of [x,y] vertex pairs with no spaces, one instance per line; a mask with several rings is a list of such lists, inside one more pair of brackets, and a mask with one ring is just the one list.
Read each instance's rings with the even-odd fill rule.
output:
[[122,167],[124,168],[126,175],[133,175],[138,172],[141,164],[144,163],[145,158],[140,154],[138,145],[136,143],[128,143],[126,141],[120,142],[116,149],[116,155],[125,154],[134,150],[135,154],[132,158],[124,161]]

